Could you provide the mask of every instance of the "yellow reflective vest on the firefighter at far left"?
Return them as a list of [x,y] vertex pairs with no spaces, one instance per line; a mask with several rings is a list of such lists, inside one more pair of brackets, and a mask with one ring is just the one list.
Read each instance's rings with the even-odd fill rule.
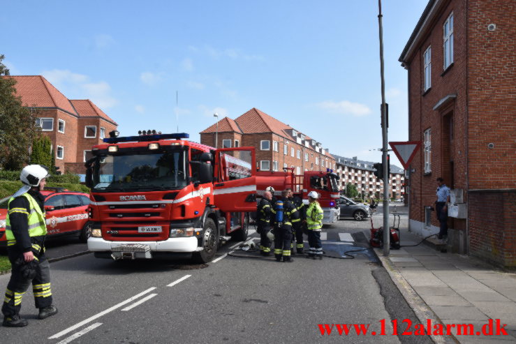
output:
[[[27,198],[29,201],[29,212],[27,213],[27,209],[25,208],[13,208],[9,209],[6,217],[6,239],[10,241],[10,244],[13,245],[15,243],[15,236],[13,231],[10,228],[10,214],[14,213],[23,213],[27,214],[28,225],[29,225],[29,237],[38,237],[40,235],[47,234],[47,226],[45,225],[45,213],[40,209],[38,203],[34,198],[28,193],[24,193],[20,197]],[[9,203],[14,200],[14,197],[11,197]],[[8,206],[9,207],[9,206]]]

